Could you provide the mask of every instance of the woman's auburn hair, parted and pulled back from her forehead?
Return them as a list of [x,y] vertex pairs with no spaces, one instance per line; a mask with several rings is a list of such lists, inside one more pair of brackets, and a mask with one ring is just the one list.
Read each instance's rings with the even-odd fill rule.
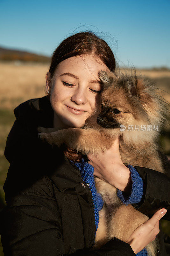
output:
[[[53,79],[57,65],[68,58],[91,54],[99,58],[109,69],[114,72],[116,60],[109,45],[92,31],[79,32],[64,39],[53,52],[49,68],[50,80]],[[50,94],[47,94],[50,100]],[[66,149],[65,155],[75,161],[80,161],[82,155],[73,149]]]

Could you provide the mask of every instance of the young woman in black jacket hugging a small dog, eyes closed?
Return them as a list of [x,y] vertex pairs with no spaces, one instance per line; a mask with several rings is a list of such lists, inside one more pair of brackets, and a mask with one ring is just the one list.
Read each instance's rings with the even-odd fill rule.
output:
[[[170,180],[165,174],[134,168],[142,178],[142,194],[138,202],[131,203],[151,219],[133,232],[128,243],[112,239],[93,251],[97,216],[94,197],[79,168],[67,159],[69,151],[65,156],[65,148],[38,139],[38,126],[81,127],[100,105],[98,72],[108,69],[114,71],[115,58],[107,43],[90,31],[77,33],[53,53],[46,74],[47,95],[14,109],[16,121],[5,148],[10,162],[4,183],[7,206],[0,213],[5,256],[147,255],[143,249],[155,238],[158,255],[166,255],[159,224],[161,217],[170,218]],[[167,170],[167,159],[162,157]],[[135,182],[121,161],[118,139],[112,148],[88,159],[94,175],[114,185],[122,198],[131,198]]]

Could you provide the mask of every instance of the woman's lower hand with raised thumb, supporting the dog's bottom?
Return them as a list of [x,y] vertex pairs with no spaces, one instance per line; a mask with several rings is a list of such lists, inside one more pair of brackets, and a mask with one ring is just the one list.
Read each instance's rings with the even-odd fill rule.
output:
[[151,219],[147,220],[131,234],[131,237],[127,243],[131,245],[131,248],[135,254],[142,251],[147,244],[155,240],[156,235],[159,233],[159,220],[165,215],[166,212],[167,211],[164,208],[155,212]]

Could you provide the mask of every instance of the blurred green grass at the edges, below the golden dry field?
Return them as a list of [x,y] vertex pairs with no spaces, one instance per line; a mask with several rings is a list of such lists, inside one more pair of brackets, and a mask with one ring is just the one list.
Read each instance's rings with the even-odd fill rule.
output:
[[[0,109],[0,206],[3,208],[5,206],[4,200],[4,190],[3,185],[6,179],[7,171],[9,168],[9,162],[4,156],[4,149],[6,144],[7,136],[11,130],[11,127],[15,121],[15,116],[13,110]],[[165,147],[165,153],[170,154],[170,149],[166,147],[166,142],[169,140],[169,132],[163,131],[162,133],[162,143]],[[166,149],[167,148],[167,149]],[[170,236],[170,224],[169,221],[161,220],[163,231]],[[0,243],[0,256],[3,256],[3,249]]]

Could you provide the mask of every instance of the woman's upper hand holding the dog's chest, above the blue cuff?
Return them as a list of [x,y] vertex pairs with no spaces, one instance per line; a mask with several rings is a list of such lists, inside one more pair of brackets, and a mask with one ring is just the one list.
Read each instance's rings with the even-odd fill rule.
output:
[[132,181],[130,170],[123,164],[119,152],[119,138],[112,147],[100,153],[98,157],[88,155],[89,164],[94,167],[94,175],[101,180],[108,181],[111,185],[126,192],[131,193]]

